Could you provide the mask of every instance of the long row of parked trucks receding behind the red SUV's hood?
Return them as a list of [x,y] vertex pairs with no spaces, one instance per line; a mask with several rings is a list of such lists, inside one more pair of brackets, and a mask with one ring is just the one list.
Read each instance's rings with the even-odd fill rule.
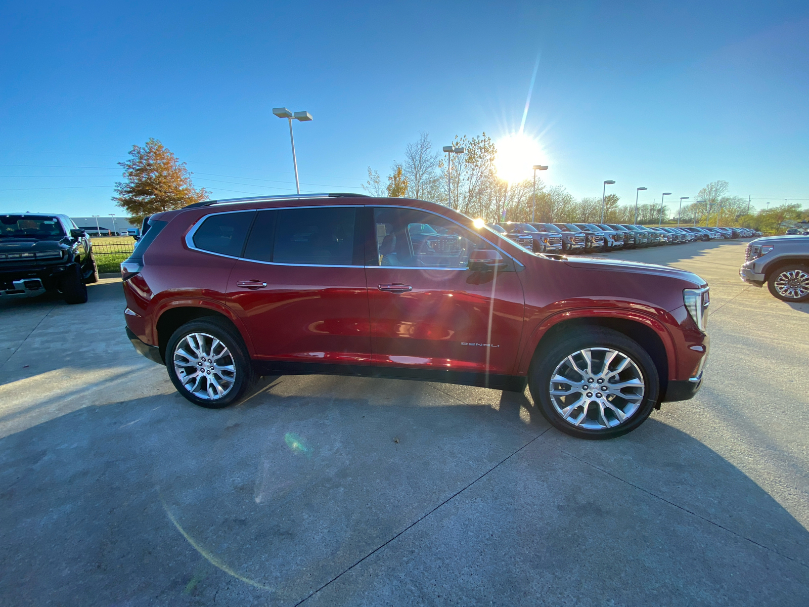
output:
[[604,253],[621,248],[682,244],[694,240],[752,238],[747,227],[650,227],[628,223],[489,224],[493,230],[534,253]]

